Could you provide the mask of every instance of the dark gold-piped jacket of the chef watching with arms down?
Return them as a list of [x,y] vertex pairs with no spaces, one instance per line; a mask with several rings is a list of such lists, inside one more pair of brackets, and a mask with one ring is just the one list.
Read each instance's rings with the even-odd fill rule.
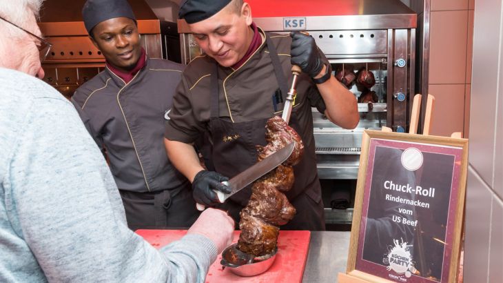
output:
[[[121,190],[187,188],[187,179],[167,159],[164,121],[183,66],[147,59],[132,81],[105,70],[79,87],[72,103],[98,146],[106,148]],[[167,116],[166,116],[167,117]]]

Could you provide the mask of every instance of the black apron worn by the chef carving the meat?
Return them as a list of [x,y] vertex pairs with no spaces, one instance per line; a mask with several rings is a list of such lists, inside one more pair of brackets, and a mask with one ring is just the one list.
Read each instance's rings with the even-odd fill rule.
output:
[[[276,52],[276,47],[267,35],[266,43],[274,66],[274,75],[276,75],[276,80],[280,86],[283,101],[286,101],[289,88],[280,65],[278,52]],[[246,168],[256,164],[258,157],[256,146],[265,146],[266,144],[265,125],[268,119],[238,123],[220,119],[218,108],[218,66],[216,64],[215,69],[214,75],[212,75],[212,105],[208,132],[212,143],[212,166],[214,166],[216,172],[227,177],[234,177]],[[271,113],[272,115],[274,113]],[[297,133],[302,133],[294,113],[291,115],[289,125]],[[225,137],[238,138],[229,142]],[[302,140],[305,141],[306,139],[302,137]],[[307,155],[309,150],[314,154],[314,143],[310,147],[313,148],[305,148],[305,155]],[[297,214],[294,219],[281,228],[311,231],[325,230],[325,216],[320,196],[321,188],[316,170],[316,159],[306,158],[306,156],[302,157],[300,163],[294,166],[294,175],[294,186],[285,195],[287,195],[291,204],[295,206]],[[230,199],[227,199],[218,208],[228,211],[229,215],[238,224],[239,212],[246,206],[250,196],[251,185],[236,193]]]

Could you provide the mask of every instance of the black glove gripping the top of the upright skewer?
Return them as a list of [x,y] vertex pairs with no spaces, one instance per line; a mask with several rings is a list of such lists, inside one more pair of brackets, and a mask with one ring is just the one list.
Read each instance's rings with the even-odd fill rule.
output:
[[309,77],[316,77],[323,68],[323,53],[316,46],[314,38],[300,32],[290,32],[291,64],[297,65]]

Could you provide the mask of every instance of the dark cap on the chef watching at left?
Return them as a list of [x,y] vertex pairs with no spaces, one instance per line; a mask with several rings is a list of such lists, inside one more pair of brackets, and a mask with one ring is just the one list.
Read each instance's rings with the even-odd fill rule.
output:
[[114,18],[130,18],[136,21],[133,10],[127,0],[88,0],[82,8],[85,29],[91,30],[98,23]]

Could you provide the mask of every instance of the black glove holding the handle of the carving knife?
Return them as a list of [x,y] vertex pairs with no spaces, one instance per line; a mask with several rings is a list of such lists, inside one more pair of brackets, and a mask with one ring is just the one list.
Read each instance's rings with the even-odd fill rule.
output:
[[231,193],[231,188],[222,184],[222,182],[228,180],[229,178],[214,171],[201,170],[196,174],[194,182],[192,182],[192,195],[198,204],[204,204],[205,206],[219,204],[218,197],[213,190]]

